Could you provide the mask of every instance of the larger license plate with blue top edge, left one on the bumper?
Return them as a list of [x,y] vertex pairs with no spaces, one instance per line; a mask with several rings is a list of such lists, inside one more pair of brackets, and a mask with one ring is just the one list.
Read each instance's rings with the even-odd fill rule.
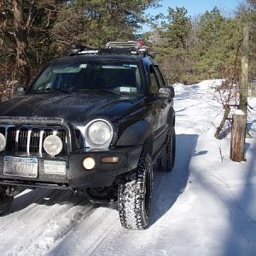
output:
[[5,156],[3,174],[19,177],[38,177],[38,159]]

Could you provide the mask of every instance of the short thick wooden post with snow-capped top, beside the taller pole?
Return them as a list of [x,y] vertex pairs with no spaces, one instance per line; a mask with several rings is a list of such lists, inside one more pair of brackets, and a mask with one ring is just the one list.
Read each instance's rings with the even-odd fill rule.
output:
[[236,162],[245,161],[245,130],[247,124],[246,114],[241,110],[236,110],[233,114],[230,159]]

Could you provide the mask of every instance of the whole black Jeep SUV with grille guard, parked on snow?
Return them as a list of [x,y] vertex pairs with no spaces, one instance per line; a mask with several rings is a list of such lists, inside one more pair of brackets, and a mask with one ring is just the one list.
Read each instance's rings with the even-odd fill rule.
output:
[[174,90],[148,49],[73,50],[16,94],[0,103],[0,213],[24,189],[70,189],[144,229],[152,163],[170,172],[175,159]]

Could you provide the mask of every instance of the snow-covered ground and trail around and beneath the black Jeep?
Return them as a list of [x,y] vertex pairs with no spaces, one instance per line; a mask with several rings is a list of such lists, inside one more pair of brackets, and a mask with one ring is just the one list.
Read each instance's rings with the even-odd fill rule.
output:
[[[147,230],[124,230],[113,206],[69,192],[26,190],[0,217],[0,255],[256,255],[256,98],[246,162],[230,161],[230,138],[217,140],[220,80],[176,84],[177,160],[154,166]],[[223,160],[222,160],[223,159]]]

